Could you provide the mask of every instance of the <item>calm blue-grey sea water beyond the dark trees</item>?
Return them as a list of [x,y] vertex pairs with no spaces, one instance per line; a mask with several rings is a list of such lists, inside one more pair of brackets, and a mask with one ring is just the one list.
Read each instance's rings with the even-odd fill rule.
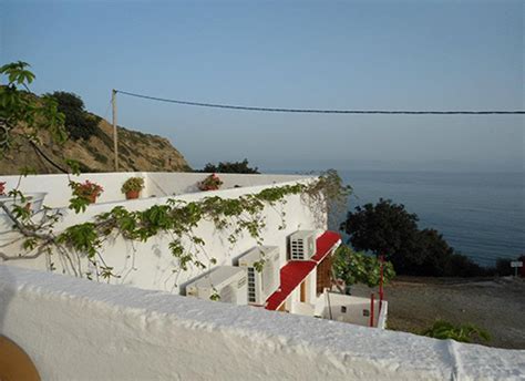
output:
[[354,189],[350,208],[380,197],[404,204],[420,227],[440,230],[456,250],[483,266],[525,254],[523,173],[340,171]]

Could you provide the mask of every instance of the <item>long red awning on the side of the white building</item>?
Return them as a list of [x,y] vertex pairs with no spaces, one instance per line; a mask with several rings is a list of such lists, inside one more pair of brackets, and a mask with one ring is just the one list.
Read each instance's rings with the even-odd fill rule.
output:
[[277,310],[288,296],[317,267],[330,250],[340,243],[341,236],[334,231],[325,231],[317,238],[317,253],[312,260],[290,260],[280,269],[280,288],[266,300],[267,310]]

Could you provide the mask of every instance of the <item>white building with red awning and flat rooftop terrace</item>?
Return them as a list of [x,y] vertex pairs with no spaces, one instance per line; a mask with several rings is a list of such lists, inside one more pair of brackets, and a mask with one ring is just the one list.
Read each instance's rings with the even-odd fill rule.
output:
[[[104,189],[96,204],[91,205],[85,213],[74,214],[68,209],[71,189],[68,187],[70,177],[66,175],[38,175],[23,177],[6,176],[6,188],[10,189],[19,185],[22,193],[32,193],[38,190],[45,194],[44,204],[59,209],[63,214],[62,220],[56,226],[56,230],[91,220],[95,215],[110,212],[115,206],[125,206],[131,210],[143,210],[155,204],[164,204],[168,198],[192,202],[203,199],[209,196],[220,196],[224,198],[238,197],[240,195],[254,194],[264,188],[296,184],[301,182],[307,184],[315,181],[315,177],[294,176],[294,175],[236,175],[222,174],[220,178],[224,185],[220,190],[200,192],[197,184],[208,174],[193,173],[111,173],[111,174],[83,174],[73,179],[81,182],[89,179],[101,185]],[[145,188],[140,199],[126,200],[121,193],[121,186],[126,178],[140,176],[145,181]],[[286,227],[279,229],[281,216],[275,208],[265,209],[266,228],[261,231],[261,238],[265,247],[274,248],[272,260],[266,261],[262,270],[256,271],[253,267],[247,268],[247,276],[259,278],[265,276],[265,281],[270,284],[265,286],[265,290],[258,290],[258,305],[268,310],[280,310],[291,313],[317,316],[337,319],[342,321],[359,322],[367,319],[356,319],[356,309],[359,305],[359,313],[369,313],[370,302],[362,298],[349,296],[333,296],[330,307],[330,297],[327,294],[331,289],[331,260],[330,256],[340,244],[340,236],[337,233],[326,231],[326,216],[313,215],[310,207],[305,205],[300,195],[290,195],[282,205],[286,213]],[[0,240],[12,240],[12,222],[3,214],[2,226],[6,233],[0,231]],[[209,222],[202,222],[197,227],[197,234],[204,239],[206,253],[200,253],[203,262],[209,260],[207,257],[216,258],[215,265],[209,264],[207,272],[199,268],[191,268],[187,271],[177,269],[177,259],[175,259],[168,248],[169,236],[159,235],[146,243],[130,241],[122,237],[116,237],[102,248],[106,266],[114,268],[120,276],[119,279],[111,279],[112,282],[131,285],[145,289],[164,290],[175,294],[187,294],[187,285],[200,279],[200,284],[207,282],[209,292],[196,292],[194,295],[202,298],[209,298],[215,294],[215,281],[219,277],[214,272],[213,267],[222,268],[225,266],[237,265],[240,257],[247,258],[246,253],[258,249],[254,238],[243,236],[235,244],[227,240],[228,231],[217,233],[216,227]],[[297,250],[296,238],[300,250]],[[302,241],[305,247],[302,247]],[[186,243],[191,245],[191,243]],[[21,243],[10,246],[9,250],[22,251]],[[268,246],[270,245],[270,246]],[[251,256],[253,257],[253,256]],[[83,258],[85,261],[85,258]],[[244,261],[244,259],[240,259]],[[17,260],[8,264],[22,266],[33,269],[45,269],[49,267],[49,259],[44,256],[28,260]],[[72,272],[68,266],[55,260],[54,264],[59,272]],[[89,264],[84,264],[84,268]],[[231,272],[231,271],[230,271]],[[234,271],[235,272],[235,271]],[[234,281],[236,276],[231,274],[231,280],[223,277],[220,282]],[[210,279],[214,278],[214,279]],[[224,278],[224,279],[223,279]],[[250,278],[251,279],[251,278]],[[215,280],[215,281],[214,281]],[[255,278],[254,278],[255,281]],[[256,282],[260,286],[260,281]],[[255,292],[256,285],[250,285],[250,292]],[[231,291],[231,290],[230,290]],[[238,291],[235,291],[238,292]],[[245,289],[241,292],[246,292]],[[192,295],[192,292],[191,292]],[[217,294],[219,295],[219,292]],[[229,299],[227,299],[229,300]],[[248,295],[235,296],[236,303],[247,303]],[[385,306],[385,305],[384,305]],[[362,307],[362,308],[361,308]],[[337,309],[337,310],[336,310]],[[383,308],[383,315],[387,308]],[[368,316],[368,315],[367,315]],[[379,313],[377,313],[379,316]],[[373,322],[377,326],[377,319]]]

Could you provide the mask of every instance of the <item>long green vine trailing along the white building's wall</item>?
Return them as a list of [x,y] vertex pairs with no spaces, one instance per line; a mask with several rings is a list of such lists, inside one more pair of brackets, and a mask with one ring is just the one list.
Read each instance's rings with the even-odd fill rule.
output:
[[[96,215],[89,223],[70,226],[58,235],[53,233],[53,225],[60,218],[60,212],[51,214],[51,209],[45,210],[43,219],[47,223],[43,225],[32,222],[30,215],[27,218],[24,215],[24,219],[19,220],[11,213],[8,215],[17,223],[16,228],[30,239],[31,245],[25,246],[28,253],[22,256],[11,257],[0,251],[0,258],[14,260],[45,254],[49,257],[50,268],[53,269],[51,255],[54,249],[64,258],[65,264],[70,264],[69,267],[74,275],[90,279],[109,279],[117,275],[104,262],[102,250],[104,241],[115,236],[122,236],[131,241],[147,241],[158,234],[165,234],[171,237],[168,248],[178,262],[176,271],[185,271],[189,268],[204,270],[216,264],[216,259],[206,253],[205,241],[194,231],[200,222],[213,223],[217,231],[224,234],[231,245],[243,235],[248,235],[260,245],[261,231],[266,228],[264,210],[269,207],[278,213],[281,224],[277,228],[284,229],[286,227],[285,213],[282,209],[279,210],[279,206],[286,204],[287,196],[300,195],[311,210],[321,209],[318,203],[327,203],[327,199],[321,197],[325,189],[319,187],[319,182],[326,184],[327,187],[333,186],[327,179],[319,178],[309,184],[296,183],[269,187],[238,198],[212,196],[196,202],[168,199],[165,204],[133,212],[123,206],[116,206],[107,213]],[[86,190],[93,190],[92,184],[89,183],[85,186],[85,183],[71,182],[73,189],[73,197],[70,200],[71,209],[76,213],[85,210],[89,206],[86,196],[90,192],[84,193],[80,189],[85,187]],[[341,192],[346,192],[346,188],[341,187]],[[7,209],[1,202],[0,207]],[[48,213],[50,213],[49,216]],[[51,234],[42,233],[41,227]],[[82,270],[81,258],[87,258],[91,264],[90,270]],[[258,266],[259,269],[264,266],[264,259]]]

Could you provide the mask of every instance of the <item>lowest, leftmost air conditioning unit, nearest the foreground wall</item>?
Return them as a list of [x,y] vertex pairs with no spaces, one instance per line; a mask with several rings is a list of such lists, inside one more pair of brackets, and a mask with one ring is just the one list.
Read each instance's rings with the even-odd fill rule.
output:
[[218,266],[209,274],[186,286],[186,296],[199,299],[218,300],[234,305],[247,305],[248,287],[246,269],[233,266]]

